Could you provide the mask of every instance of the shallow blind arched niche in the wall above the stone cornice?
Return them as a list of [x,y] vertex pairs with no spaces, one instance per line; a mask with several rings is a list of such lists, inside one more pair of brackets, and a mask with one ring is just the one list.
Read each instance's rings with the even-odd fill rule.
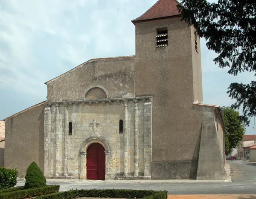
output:
[[84,92],[84,99],[108,98],[108,91],[101,85],[90,86]]

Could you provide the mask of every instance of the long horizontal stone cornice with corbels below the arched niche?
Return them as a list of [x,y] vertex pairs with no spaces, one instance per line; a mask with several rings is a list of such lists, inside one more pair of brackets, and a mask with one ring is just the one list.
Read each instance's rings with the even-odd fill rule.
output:
[[85,100],[67,100],[67,101],[52,101],[52,102],[45,102],[45,105],[52,105],[52,104],[91,104],[91,103],[99,103],[102,102],[103,104],[105,102],[109,102],[110,104],[114,101],[120,102],[125,100],[138,100],[143,99],[146,101],[148,99],[150,102],[152,101],[152,96],[146,96],[146,97],[127,97],[127,98],[100,98],[100,99],[85,99]]

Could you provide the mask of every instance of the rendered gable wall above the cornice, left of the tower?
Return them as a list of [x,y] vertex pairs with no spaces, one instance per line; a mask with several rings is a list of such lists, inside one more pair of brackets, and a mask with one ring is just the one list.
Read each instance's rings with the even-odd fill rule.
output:
[[47,101],[81,100],[88,88],[108,98],[134,97],[134,56],[89,60],[47,82]]

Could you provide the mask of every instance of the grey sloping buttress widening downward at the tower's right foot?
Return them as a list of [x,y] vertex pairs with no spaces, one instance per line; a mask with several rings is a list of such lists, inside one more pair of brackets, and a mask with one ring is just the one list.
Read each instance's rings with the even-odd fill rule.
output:
[[[201,110],[202,128],[200,139],[200,151],[198,158],[198,180],[225,179],[223,148],[221,138],[215,122],[218,107],[211,105],[196,105],[195,109]],[[216,110],[218,109],[218,111]]]

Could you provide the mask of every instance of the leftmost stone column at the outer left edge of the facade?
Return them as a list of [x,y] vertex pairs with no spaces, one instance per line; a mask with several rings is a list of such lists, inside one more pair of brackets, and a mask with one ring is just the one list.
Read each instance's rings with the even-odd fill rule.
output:
[[50,148],[51,148],[51,106],[46,104],[44,108],[44,175],[52,175],[51,171],[51,159],[50,159]]

